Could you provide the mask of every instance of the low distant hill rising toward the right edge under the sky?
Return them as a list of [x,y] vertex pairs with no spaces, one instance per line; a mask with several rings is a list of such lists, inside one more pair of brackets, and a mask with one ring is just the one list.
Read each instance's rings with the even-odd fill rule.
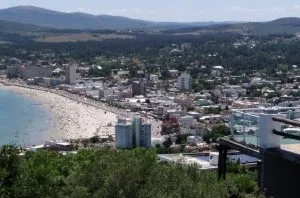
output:
[[280,18],[270,22],[251,22],[238,24],[217,24],[206,27],[188,27],[167,30],[173,34],[202,34],[213,32],[236,32],[246,34],[295,34],[300,33],[300,18]]

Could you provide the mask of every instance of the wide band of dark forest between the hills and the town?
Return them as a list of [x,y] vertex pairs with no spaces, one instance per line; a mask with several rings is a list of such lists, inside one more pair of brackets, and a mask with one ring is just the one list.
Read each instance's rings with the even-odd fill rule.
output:
[[[76,33],[75,30],[63,31]],[[26,58],[23,53],[20,53],[20,49],[30,52],[41,52],[49,49],[58,55],[68,54],[78,61],[88,62],[92,62],[95,56],[135,57],[144,60],[144,69],[148,73],[157,71],[163,73],[167,69],[189,70],[195,75],[194,78],[197,77],[197,74],[210,74],[210,68],[207,67],[203,71],[201,65],[222,65],[225,69],[232,70],[232,75],[250,74],[253,71],[265,70],[263,74],[268,76],[276,74],[278,65],[300,65],[298,58],[300,57],[300,41],[289,34],[249,36],[246,41],[243,35],[236,33],[211,33],[198,36],[149,34],[145,32],[128,34],[136,36],[136,39],[40,43],[17,34],[1,34],[2,40],[10,41],[13,45],[0,45],[0,54]],[[234,46],[233,43],[235,42],[246,42],[246,44]],[[191,45],[181,48],[181,44],[184,43]],[[171,53],[174,48],[181,51]],[[30,53],[28,56],[30,59]],[[124,67],[134,66],[133,64],[126,64]],[[121,67],[121,64],[115,65],[115,68]]]

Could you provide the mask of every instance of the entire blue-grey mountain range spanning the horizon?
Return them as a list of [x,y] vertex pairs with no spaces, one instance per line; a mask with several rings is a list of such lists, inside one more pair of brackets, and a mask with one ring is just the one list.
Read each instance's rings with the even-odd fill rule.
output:
[[153,22],[121,16],[64,13],[34,6],[0,9],[0,32],[71,30],[151,30],[171,34],[235,32],[242,34],[300,34],[300,18],[270,22]]

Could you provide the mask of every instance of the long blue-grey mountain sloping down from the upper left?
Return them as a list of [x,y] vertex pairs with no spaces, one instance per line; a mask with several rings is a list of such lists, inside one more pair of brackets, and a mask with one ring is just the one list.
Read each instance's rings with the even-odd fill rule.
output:
[[[119,16],[63,13],[33,6],[18,6],[0,10],[0,20],[34,24],[57,29],[178,29],[207,26],[223,22],[152,22]],[[230,23],[230,22],[224,22]]]

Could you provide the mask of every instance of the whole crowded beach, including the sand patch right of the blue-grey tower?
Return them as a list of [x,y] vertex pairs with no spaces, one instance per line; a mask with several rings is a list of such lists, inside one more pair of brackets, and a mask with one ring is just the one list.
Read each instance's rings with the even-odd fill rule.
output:
[[[48,118],[51,127],[47,139],[50,140],[114,137],[118,117],[132,118],[136,114],[63,90],[24,84],[10,84],[5,88],[31,97],[49,110],[52,116]],[[143,119],[152,124],[152,136],[160,136],[161,123],[155,119]]]

